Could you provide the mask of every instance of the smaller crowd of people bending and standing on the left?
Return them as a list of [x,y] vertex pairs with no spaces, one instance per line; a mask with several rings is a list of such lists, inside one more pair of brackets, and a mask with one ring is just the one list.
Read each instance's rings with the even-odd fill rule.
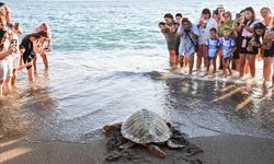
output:
[[53,50],[48,25],[43,23],[20,43],[19,36],[22,34],[22,26],[12,22],[9,5],[0,2],[0,96],[8,95],[10,86],[16,84],[18,70],[26,68],[28,80],[34,81],[37,55],[48,69],[46,52]]

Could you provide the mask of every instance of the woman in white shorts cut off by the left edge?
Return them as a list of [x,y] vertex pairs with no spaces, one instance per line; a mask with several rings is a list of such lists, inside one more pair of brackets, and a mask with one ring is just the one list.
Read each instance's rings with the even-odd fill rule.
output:
[[8,37],[7,31],[0,25],[0,96],[9,94],[9,81],[12,74],[9,62],[12,61],[11,54],[16,51],[15,47],[7,48]]

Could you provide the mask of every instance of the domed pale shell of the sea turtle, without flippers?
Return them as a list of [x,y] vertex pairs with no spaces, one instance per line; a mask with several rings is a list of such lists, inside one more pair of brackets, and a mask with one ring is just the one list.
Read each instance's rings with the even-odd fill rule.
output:
[[171,130],[158,114],[141,109],[133,114],[122,125],[122,136],[136,143],[165,142]]

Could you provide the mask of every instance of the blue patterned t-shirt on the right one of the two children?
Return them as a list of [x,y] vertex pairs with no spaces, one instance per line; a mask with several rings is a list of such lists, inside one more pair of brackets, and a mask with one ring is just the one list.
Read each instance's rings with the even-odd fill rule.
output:
[[222,57],[228,58],[230,57],[231,51],[236,46],[236,42],[232,37],[226,38],[222,36],[220,39],[220,46],[221,46]]

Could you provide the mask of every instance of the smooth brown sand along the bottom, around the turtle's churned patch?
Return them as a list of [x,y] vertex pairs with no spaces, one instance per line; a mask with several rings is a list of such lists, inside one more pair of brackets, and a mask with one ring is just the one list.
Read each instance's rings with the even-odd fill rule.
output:
[[[206,164],[272,164],[274,161],[274,140],[243,137],[217,136],[193,138],[190,141],[204,150],[198,154]],[[101,164],[105,161],[106,139],[88,144],[48,141],[32,143],[25,140],[2,139],[0,141],[0,163],[3,164]],[[157,164],[187,164],[180,157],[180,152],[164,150],[165,159],[158,159],[148,152],[136,148],[138,159],[135,161],[119,160],[114,163],[157,163]]]

